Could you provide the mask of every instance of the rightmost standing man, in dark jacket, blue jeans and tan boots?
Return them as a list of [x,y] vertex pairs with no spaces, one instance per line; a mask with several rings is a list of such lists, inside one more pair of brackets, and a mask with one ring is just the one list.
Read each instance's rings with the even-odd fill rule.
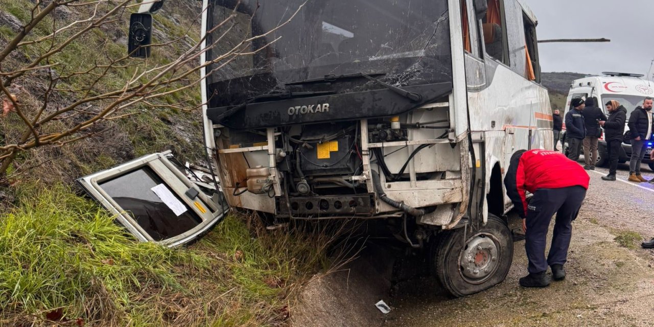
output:
[[631,135],[631,161],[629,162],[630,182],[647,182],[640,175],[640,165],[645,156],[647,141],[652,135],[652,98],[645,97],[642,107],[636,107],[629,116],[629,133]]

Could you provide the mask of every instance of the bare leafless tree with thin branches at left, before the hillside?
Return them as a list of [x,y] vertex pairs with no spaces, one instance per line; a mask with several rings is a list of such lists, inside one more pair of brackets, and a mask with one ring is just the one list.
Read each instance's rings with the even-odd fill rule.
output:
[[[94,33],[102,31],[109,24],[129,21],[129,13],[135,11],[138,2],[37,0],[30,9],[29,21],[24,22],[4,46],[0,41],[0,99],[3,102],[3,115],[15,114],[20,117],[18,122],[22,130],[16,139],[5,139],[3,143],[0,139],[0,177],[7,173],[10,164],[21,152],[43,146],[64,146],[94,137],[102,132],[101,129],[97,130],[99,124],[126,118],[134,113],[131,109],[137,105],[146,110],[162,107],[197,109],[201,104],[188,100],[171,104],[162,99],[176,92],[196,88],[200,82],[199,70],[204,67],[211,65],[212,71],[207,72],[209,75],[240,56],[251,56],[254,54],[251,50],[252,41],[273,33],[269,31],[266,35],[256,37],[240,35],[240,39],[233,42],[233,27],[237,25],[236,14],[233,12],[213,27],[213,31],[220,31],[216,33],[219,36],[203,47],[201,44],[205,39],[199,37],[201,12],[197,12],[197,24],[185,27],[188,30],[184,35],[165,43],[152,44],[154,54],[160,48],[186,44],[179,53],[166,58],[165,63],[130,58],[126,54],[126,46],[122,53],[111,52],[101,46],[92,61],[82,58],[82,64],[71,67],[69,58],[76,56],[80,43],[86,42],[88,37],[94,36]],[[81,13],[84,19],[58,19],[57,12],[61,10],[73,10],[78,13],[77,16]],[[207,34],[211,32],[208,31]],[[221,48],[221,54],[214,54],[211,61],[201,63],[201,55],[216,48],[216,44],[221,44],[226,37],[232,37],[232,42],[229,43],[232,45],[227,49]],[[260,50],[262,49],[257,51]],[[38,101],[24,103],[20,84],[29,79],[40,80],[43,90],[35,95]],[[66,105],[54,106],[52,99],[56,97],[72,100]]]

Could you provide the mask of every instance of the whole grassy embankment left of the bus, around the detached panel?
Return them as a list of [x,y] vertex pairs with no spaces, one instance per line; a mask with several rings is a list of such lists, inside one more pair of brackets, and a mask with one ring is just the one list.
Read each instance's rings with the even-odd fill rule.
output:
[[[193,2],[195,3],[195,1]],[[167,3],[155,27],[171,38],[186,33],[197,16]],[[0,10],[22,22],[29,0],[0,1]],[[58,24],[85,18],[71,9]],[[169,19],[175,17],[177,22]],[[103,58],[123,56],[128,20],[94,29],[54,58],[59,74],[83,71]],[[47,35],[46,19],[28,39]],[[0,26],[0,48],[17,32]],[[154,52],[149,65],[166,63],[183,50],[173,43]],[[18,67],[43,51],[27,46],[1,62],[3,71]],[[132,71],[112,71],[95,84],[95,92],[122,86]],[[82,89],[89,76],[71,78],[61,89]],[[18,95],[27,114],[41,107],[42,78],[19,81]],[[55,94],[50,108],[73,101],[80,93]],[[198,88],[161,99],[162,103],[199,103]],[[32,111],[31,111],[32,110]],[[48,109],[50,110],[50,109]],[[89,110],[94,110],[90,108]],[[146,153],[171,149],[181,160],[201,158],[198,112],[137,106],[119,121],[104,122],[89,139],[61,147],[19,154],[10,180],[0,185],[0,326],[275,326],[289,315],[298,287],[313,272],[328,267],[324,249],[332,239],[321,233],[266,232],[245,218],[230,216],[189,248],[166,249],[138,243],[111,216],[80,198],[68,186],[81,175],[105,169]],[[41,126],[43,133],[66,122]],[[0,144],[24,132],[15,114],[0,117]],[[24,170],[26,167],[32,169]]]

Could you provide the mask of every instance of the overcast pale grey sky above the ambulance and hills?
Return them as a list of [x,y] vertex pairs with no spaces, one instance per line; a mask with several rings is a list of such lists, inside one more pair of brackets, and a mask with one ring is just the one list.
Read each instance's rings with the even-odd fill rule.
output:
[[[610,43],[544,43],[542,70],[645,74],[654,59],[654,0],[523,0],[538,18],[538,39]],[[649,73],[654,73],[654,69]]]

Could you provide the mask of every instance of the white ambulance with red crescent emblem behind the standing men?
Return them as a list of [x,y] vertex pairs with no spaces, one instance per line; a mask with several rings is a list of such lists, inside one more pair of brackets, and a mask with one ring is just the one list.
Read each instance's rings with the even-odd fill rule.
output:
[[[579,78],[574,80],[570,85],[570,92],[568,93],[567,105],[562,118],[565,119],[565,114],[572,110],[570,102],[576,97],[588,99],[592,97],[595,101],[596,107],[602,108],[602,111],[608,116],[604,103],[611,100],[616,100],[627,109],[627,122],[629,116],[636,107],[643,104],[645,97],[654,97],[654,82],[644,80],[644,75],[627,74],[627,73],[611,73],[604,72],[604,76],[591,76]],[[625,141],[623,142],[620,151],[619,162],[628,162],[631,156],[631,145],[629,139],[629,128],[625,122]],[[565,130],[565,124],[563,124]],[[563,136],[564,137],[564,136]],[[652,148],[652,141],[647,145],[647,154],[645,155],[644,163],[649,165],[649,169],[654,170],[654,162],[649,160],[649,153]],[[567,145],[564,146],[567,152]],[[598,145],[598,161],[596,165],[602,166],[608,163],[608,156],[606,153],[606,141],[604,141],[604,133],[600,137]]]

